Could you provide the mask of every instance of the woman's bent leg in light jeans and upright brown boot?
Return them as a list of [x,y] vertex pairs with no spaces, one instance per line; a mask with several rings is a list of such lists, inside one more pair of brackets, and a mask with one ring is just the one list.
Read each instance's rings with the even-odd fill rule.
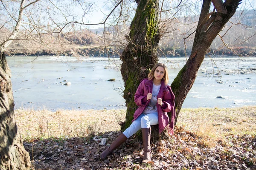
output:
[[141,131],[142,131],[142,140],[143,140],[143,163],[151,161],[151,152],[150,152],[150,133],[151,125],[158,124],[158,113],[150,113],[141,118]]

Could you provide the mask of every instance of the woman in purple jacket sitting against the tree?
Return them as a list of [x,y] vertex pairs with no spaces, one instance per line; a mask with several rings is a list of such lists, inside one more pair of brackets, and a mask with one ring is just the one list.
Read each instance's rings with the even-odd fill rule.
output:
[[169,77],[166,65],[163,63],[155,65],[148,74],[148,78],[140,82],[134,95],[134,101],[139,108],[134,113],[132,124],[100,154],[100,159],[106,159],[114,149],[141,129],[144,150],[143,163],[151,161],[150,126],[159,124],[159,133],[161,133],[169,124],[169,117],[166,112],[172,112],[169,134],[173,135],[175,96],[172,93],[171,87],[167,85],[168,81]]

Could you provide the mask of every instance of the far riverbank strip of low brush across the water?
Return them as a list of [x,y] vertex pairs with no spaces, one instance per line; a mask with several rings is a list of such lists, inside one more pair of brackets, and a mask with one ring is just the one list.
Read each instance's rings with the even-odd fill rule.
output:
[[[232,49],[232,50],[230,50]],[[237,54],[240,54],[242,57],[255,57],[256,56],[256,47],[232,47],[230,49],[227,48],[211,48],[208,53],[210,56],[215,57],[218,55],[225,55],[228,57],[239,57]],[[166,57],[181,57],[181,56],[189,56],[192,49],[186,49],[186,54],[184,48],[161,48],[158,50],[158,54]],[[76,50],[63,51],[59,55],[64,56],[80,56],[80,57],[109,57],[109,55],[119,57],[122,54],[122,50],[119,50],[115,53],[110,53],[109,51],[113,51],[111,47],[105,46],[78,46]],[[27,49],[9,49],[9,54],[11,56],[47,56],[47,55],[56,55],[56,51],[51,50],[41,50],[41,51],[29,51]]]

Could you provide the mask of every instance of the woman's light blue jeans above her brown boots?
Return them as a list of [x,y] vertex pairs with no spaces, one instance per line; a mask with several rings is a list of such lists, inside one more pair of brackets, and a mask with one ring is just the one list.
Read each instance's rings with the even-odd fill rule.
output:
[[123,134],[130,138],[134,133],[136,133],[141,128],[149,128],[151,125],[158,124],[158,114],[157,113],[142,113],[132,124],[123,132]]

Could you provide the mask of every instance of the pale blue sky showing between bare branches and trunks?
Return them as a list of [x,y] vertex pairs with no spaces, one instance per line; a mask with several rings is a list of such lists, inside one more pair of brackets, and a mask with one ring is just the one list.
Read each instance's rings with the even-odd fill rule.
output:
[[[117,1],[117,0],[116,0]],[[78,21],[78,22],[84,22],[84,23],[102,23],[105,18],[107,17],[107,15],[110,13],[110,11],[114,8],[114,3],[116,2],[115,0],[76,0],[76,1],[70,1],[70,0],[52,0],[51,2],[55,2],[55,3],[58,3],[62,5],[62,10],[63,8],[66,9],[67,11],[67,15],[69,14],[69,11],[70,13],[72,13],[72,15],[68,16],[67,19],[68,21]],[[6,1],[8,2],[8,0]],[[11,1],[9,1],[10,3]],[[42,0],[40,1],[44,4],[47,4],[47,0]],[[131,8],[128,9],[128,5],[132,4],[132,8],[136,8],[137,7],[137,4],[134,2],[134,0],[124,0],[124,2],[127,2],[127,4],[125,4],[123,7],[123,9],[125,8],[125,10],[130,10],[131,11]],[[167,7],[167,9],[170,8],[174,8],[177,6],[177,4],[179,3],[180,1],[177,0],[164,0],[164,3]],[[195,3],[197,2],[197,5],[198,4],[201,4],[202,0],[183,0],[182,3]],[[19,5],[19,2],[17,1],[17,6]],[[29,3],[29,2],[27,2]],[[50,4],[50,2],[48,2]],[[70,5],[72,3],[76,3],[75,6],[73,5]],[[80,3],[80,5],[79,5]],[[89,12],[87,14],[84,14],[84,10],[82,8],[86,8],[86,4],[93,4],[92,7],[90,8]],[[160,0],[160,5],[162,4],[162,0]],[[70,5],[71,8],[67,8],[67,5]],[[33,7],[32,7],[33,8]],[[179,16],[184,14],[184,16],[188,16],[190,15],[190,9],[194,10],[193,8],[194,7],[190,7],[190,6],[184,6],[184,11],[185,12],[179,12]],[[0,9],[1,9],[1,6],[0,6]],[[239,8],[238,10],[248,10],[248,9],[254,9],[255,10],[255,13],[256,13],[256,0],[242,0],[242,4],[239,5]],[[58,9],[54,9],[55,11],[53,12],[56,12],[55,14],[55,17],[57,18],[57,21],[59,21],[60,23],[63,22],[63,23],[66,23],[66,20],[64,17],[60,17],[61,16],[61,12],[58,12]],[[190,10],[190,11],[189,11]],[[85,11],[88,11],[88,8],[85,9]],[[134,10],[135,11],[135,10]],[[132,20],[132,17],[133,17],[133,14],[134,14],[134,11],[130,14],[130,21]],[[185,14],[186,12],[189,12],[189,14]],[[200,11],[200,7],[198,7],[198,10],[196,13],[199,14],[199,11]],[[0,10],[0,13],[2,11]],[[35,11],[37,12],[37,11]],[[18,8],[17,8],[17,11],[16,11],[16,15],[18,13]],[[58,14],[57,14],[58,13]],[[118,15],[119,13],[119,9],[116,9],[116,14]],[[172,13],[172,12],[171,12]],[[47,13],[46,12],[41,12],[41,15],[42,14],[45,14],[47,16]],[[192,14],[192,13],[191,13]],[[177,14],[176,14],[177,15]],[[8,16],[8,14],[7,14]],[[84,20],[82,20],[82,16],[84,16]],[[163,15],[162,15],[163,17]],[[28,22],[26,21],[26,17],[23,17],[24,18],[24,22]],[[113,21],[113,19],[110,17],[108,19],[108,22],[111,22],[111,20]],[[3,20],[4,21],[4,20]],[[43,22],[48,22],[49,21],[49,18],[45,17]],[[106,25],[108,26],[108,25]],[[90,29],[96,29],[96,28],[103,28],[104,25],[90,25],[90,26],[87,26],[87,28],[90,28]]]

